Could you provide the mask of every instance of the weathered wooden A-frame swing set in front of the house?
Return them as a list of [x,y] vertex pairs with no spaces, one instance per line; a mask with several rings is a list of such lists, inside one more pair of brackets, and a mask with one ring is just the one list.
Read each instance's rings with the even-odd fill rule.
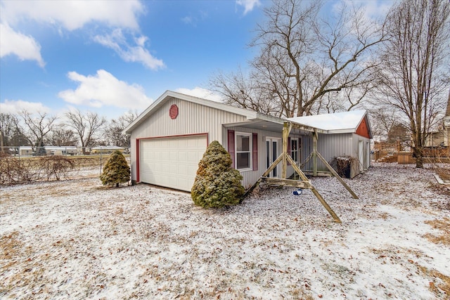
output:
[[[282,145],[281,155],[279,155],[277,157],[277,159],[275,159],[275,161],[266,169],[266,171],[264,171],[264,173],[261,175],[261,177],[259,177],[259,179],[245,192],[241,202],[245,199],[245,197],[247,195],[249,195],[252,192],[252,190],[254,190],[259,185],[259,183],[262,183],[262,182],[274,184],[274,185],[288,185],[288,186],[293,186],[295,188],[307,188],[312,191],[312,193],[316,196],[316,198],[319,200],[319,202],[321,202],[323,207],[325,207],[325,209],[328,211],[328,213],[333,217],[334,221],[337,223],[342,223],[342,221],[340,221],[340,219],[339,219],[339,216],[337,214],[335,214],[335,211],[333,211],[333,209],[330,207],[330,205],[328,205],[328,203],[323,199],[323,197],[319,193],[319,191],[316,190],[316,188],[314,188],[314,185],[312,185],[311,181],[309,181],[309,179],[303,173],[301,168],[298,167],[297,164],[295,164],[292,157],[290,157],[290,155],[288,154],[288,136],[292,129],[304,130],[305,126],[296,124],[293,122],[284,122],[284,124],[283,124],[283,142],[282,142],[283,145]],[[342,178],[333,169],[333,167],[331,167],[330,164],[328,164],[328,162],[326,161],[326,159],[324,159],[323,156],[319,153],[319,151],[317,151],[317,141],[319,139],[319,133],[318,133],[317,129],[311,128],[310,131],[311,131],[312,137],[313,137],[313,150],[312,150],[311,154],[307,157],[307,159],[305,159],[305,161],[302,163],[302,165],[306,164],[310,159],[312,159],[313,176],[317,176],[317,159],[319,159],[326,166],[328,171],[330,171],[330,173],[333,174],[333,176],[335,176],[342,185],[344,185],[344,187],[349,191],[349,193],[352,194],[352,197],[354,199],[359,199],[358,196],[353,192],[353,190],[351,188],[349,188],[347,183],[345,183],[345,181],[342,180]],[[281,167],[281,177],[282,178],[267,177],[267,176],[269,176],[270,172],[272,170],[274,170],[275,167],[280,163],[282,164],[282,167]],[[291,164],[294,171],[297,172],[297,174],[300,177],[300,180],[293,180],[293,179],[287,178],[288,163]]]

